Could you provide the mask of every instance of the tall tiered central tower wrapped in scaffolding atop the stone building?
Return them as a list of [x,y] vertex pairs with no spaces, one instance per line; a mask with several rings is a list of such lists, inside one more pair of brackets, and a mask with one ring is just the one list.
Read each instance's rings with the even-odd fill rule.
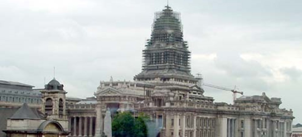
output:
[[196,84],[198,79],[190,73],[190,54],[183,40],[180,13],[168,5],[155,13],[151,38],[143,50],[142,72],[135,81]]

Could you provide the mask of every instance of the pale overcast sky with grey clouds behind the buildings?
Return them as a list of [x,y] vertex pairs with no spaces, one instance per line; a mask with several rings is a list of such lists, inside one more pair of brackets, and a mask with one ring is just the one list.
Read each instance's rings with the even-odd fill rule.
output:
[[[2,0],[0,79],[90,97],[100,81],[132,80],[165,0]],[[181,12],[192,74],[245,95],[281,97],[302,122],[301,0],[170,0]],[[216,102],[232,93],[204,87]]]

